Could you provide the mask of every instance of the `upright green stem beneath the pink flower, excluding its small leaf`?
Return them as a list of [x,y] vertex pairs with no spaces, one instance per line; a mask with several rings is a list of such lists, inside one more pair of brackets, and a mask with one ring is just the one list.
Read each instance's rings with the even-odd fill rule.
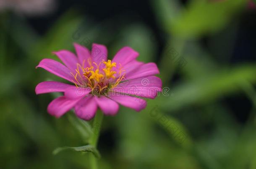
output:
[[[97,143],[99,139],[99,133],[100,133],[100,128],[103,120],[103,114],[101,111],[97,111],[96,116],[94,117],[94,121],[92,124],[92,135],[89,140],[89,144],[97,148]],[[90,154],[90,165],[91,169],[97,169],[97,159],[93,154]]]

